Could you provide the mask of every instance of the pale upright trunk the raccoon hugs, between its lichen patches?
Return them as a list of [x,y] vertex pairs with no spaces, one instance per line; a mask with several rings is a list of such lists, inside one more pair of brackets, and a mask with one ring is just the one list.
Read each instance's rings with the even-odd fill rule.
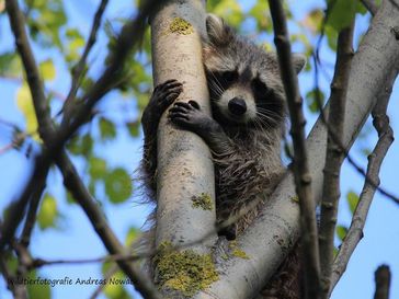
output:
[[[179,23],[181,20],[189,24]],[[168,79],[179,80],[183,83],[179,101],[195,100],[210,114],[202,64],[204,32],[204,1],[170,1],[162,7],[151,20],[153,81],[157,85]],[[170,242],[181,246],[209,234],[216,222],[210,152],[198,136],[176,129],[166,115],[158,129],[157,176],[156,245]],[[212,210],[194,207],[193,198],[197,197],[212,199]],[[209,253],[215,240],[216,233],[191,249]]]

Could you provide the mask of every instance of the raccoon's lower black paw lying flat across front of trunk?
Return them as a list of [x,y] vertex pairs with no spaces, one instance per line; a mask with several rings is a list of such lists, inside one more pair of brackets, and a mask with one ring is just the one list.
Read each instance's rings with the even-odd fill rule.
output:
[[189,103],[174,103],[169,110],[169,119],[183,129],[198,134],[206,130],[209,122],[213,120],[208,115],[201,111],[198,103],[195,101],[189,101]]

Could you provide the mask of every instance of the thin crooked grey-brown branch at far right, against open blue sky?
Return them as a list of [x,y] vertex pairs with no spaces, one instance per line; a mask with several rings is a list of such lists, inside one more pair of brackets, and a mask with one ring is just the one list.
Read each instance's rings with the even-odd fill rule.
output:
[[[391,82],[388,82],[387,87],[391,87],[392,82],[394,81],[391,79]],[[366,222],[368,209],[372,205],[376,188],[379,185],[379,170],[383,160],[394,141],[394,133],[389,126],[389,118],[386,114],[390,93],[390,88],[385,89],[379,95],[378,102],[372,112],[372,115],[374,117],[373,124],[378,133],[379,139],[373,152],[368,156],[368,165],[366,173],[367,180],[365,180],[358,204],[353,215],[351,227],[340,246],[332,267],[330,292],[337,285],[338,280],[341,278],[342,274],[345,272],[352,253],[363,238],[363,228]]]

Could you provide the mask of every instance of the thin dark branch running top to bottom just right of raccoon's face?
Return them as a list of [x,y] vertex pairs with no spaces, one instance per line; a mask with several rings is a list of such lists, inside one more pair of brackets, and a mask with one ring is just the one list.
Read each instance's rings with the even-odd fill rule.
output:
[[280,0],[269,0],[274,25],[274,43],[284,82],[290,116],[290,135],[294,141],[294,176],[300,206],[301,244],[304,256],[306,298],[318,298],[320,291],[319,244],[317,238],[315,199],[311,175],[305,147],[305,117],[303,100],[298,91],[298,79],[294,70],[289,38],[283,5]]

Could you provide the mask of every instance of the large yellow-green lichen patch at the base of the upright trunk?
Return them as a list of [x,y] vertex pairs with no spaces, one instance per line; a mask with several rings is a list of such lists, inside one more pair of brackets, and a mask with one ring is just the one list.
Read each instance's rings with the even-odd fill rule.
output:
[[192,297],[219,279],[210,254],[197,254],[192,250],[174,251],[170,242],[163,242],[155,257],[157,283],[161,288],[176,290]]

